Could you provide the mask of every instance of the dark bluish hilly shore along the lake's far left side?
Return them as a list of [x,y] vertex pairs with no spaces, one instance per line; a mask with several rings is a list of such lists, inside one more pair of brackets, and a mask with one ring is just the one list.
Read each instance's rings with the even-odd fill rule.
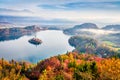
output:
[[21,36],[31,35],[40,30],[41,30],[40,27],[37,27],[35,25],[27,26],[24,28],[20,27],[3,28],[0,29],[0,41],[18,39]]

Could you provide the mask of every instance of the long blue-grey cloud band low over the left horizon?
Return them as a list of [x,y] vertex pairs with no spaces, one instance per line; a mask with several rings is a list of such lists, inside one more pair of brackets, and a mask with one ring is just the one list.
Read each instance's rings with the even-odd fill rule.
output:
[[74,21],[65,19],[44,19],[41,17],[24,17],[24,16],[1,16],[0,22],[11,22],[11,23],[47,23],[47,24],[64,24],[64,23],[74,23]]

